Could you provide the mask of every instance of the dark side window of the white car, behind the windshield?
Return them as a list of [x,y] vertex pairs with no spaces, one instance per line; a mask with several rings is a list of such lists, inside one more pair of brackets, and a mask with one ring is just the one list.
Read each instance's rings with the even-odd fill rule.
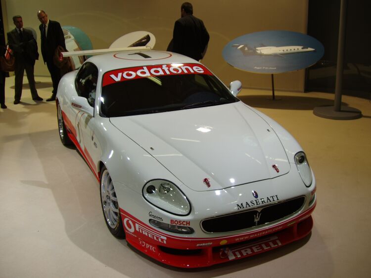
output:
[[79,96],[88,99],[93,107],[95,102],[96,82],[98,80],[98,69],[93,63],[85,63],[77,73],[75,79],[76,92]]

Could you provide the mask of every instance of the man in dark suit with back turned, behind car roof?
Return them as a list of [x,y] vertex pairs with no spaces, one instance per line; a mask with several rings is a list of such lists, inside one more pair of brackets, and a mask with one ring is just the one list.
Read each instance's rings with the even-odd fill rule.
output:
[[170,42],[168,50],[199,61],[205,55],[210,39],[209,33],[203,21],[193,16],[191,3],[184,2],[182,4],[181,16],[175,22],[173,40]]

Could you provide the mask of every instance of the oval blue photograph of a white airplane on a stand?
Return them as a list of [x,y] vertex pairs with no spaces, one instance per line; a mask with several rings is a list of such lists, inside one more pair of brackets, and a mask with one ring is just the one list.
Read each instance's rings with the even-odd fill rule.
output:
[[223,49],[223,58],[239,70],[277,74],[305,69],[324,55],[321,42],[291,31],[263,31],[240,36]]

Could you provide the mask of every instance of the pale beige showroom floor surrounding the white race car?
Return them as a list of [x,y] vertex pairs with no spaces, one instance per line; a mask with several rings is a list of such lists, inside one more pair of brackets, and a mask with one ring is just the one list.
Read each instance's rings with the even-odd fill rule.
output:
[[[26,79],[26,78],[25,78]],[[36,78],[40,96],[51,82]],[[40,82],[41,81],[41,82]],[[371,103],[343,96],[362,111],[330,120],[313,108],[333,104],[325,93],[243,90],[240,98],[276,119],[299,141],[317,178],[312,234],[299,242],[229,264],[178,270],[113,238],[105,226],[98,184],[74,149],[61,145],[54,103],[35,103],[25,85],[13,105],[6,79],[0,109],[0,277],[370,277]]]

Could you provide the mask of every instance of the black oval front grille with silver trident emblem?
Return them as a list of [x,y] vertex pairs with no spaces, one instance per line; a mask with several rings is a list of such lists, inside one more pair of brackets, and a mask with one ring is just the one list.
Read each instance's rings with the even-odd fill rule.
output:
[[304,202],[303,196],[259,209],[205,219],[201,222],[201,227],[207,233],[226,233],[255,228],[295,214],[302,208]]

